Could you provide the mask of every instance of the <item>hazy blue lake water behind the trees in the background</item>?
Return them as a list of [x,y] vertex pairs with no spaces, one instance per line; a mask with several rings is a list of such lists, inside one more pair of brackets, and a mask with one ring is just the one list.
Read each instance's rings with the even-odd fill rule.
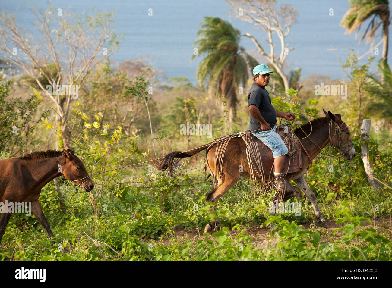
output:
[[[45,9],[48,1],[32,1],[37,7]],[[63,10],[72,7],[75,11],[91,11],[91,6],[97,9],[116,10],[116,32],[124,32],[124,39],[118,53],[112,56],[113,60],[131,60],[136,57],[149,55],[152,65],[165,72],[167,78],[185,76],[196,83],[196,68],[201,57],[194,62],[190,61],[193,53],[192,43],[203,21],[203,16],[216,16],[224,20],[231,20],[234,27],[241,33],[253,34],[269,51],[268,44],[262,39],[266,37],[263,30],[255,30],[252,24],[241,21],[236,17],[229,16],[232,11],[227,2],[215,1],[75,1],[68,0],[51,2],[55,7]],[[64,2],[65,3],[65,2]],[[278,1],[282,3],[282,1]],[[332,78],[341,78],[343,71],[339,67],[336,56],[328,49],[336,48],[341,62],[345,62],[349,48],[354,48],[363,54],[369,49],[365,42],[358,45],[353,34],[344,34],[345,29],[339,23],[348,9],[348,2],[343,0],[329,1],[285,1],[292,4],[298,11],[297,23],[292,25],[291,32],[286,38],[286,43],[295,50],[287,56],[287,64],[290,69],[302,68],[302,75],[321,73]],[[148,15],[148,9],[152,9],[152,16]],[[28,9],[24,1],[2,1],[2,9],[11,13],[16,12],[17,20],[24,27],[31,27],[34,15]],[[330,16],[330,9],[334,9],[334,15]],[[362,28],[362,31],[366,27]],[[392,30],[392,29],[390,29]],[[360,34],[361,35],[361,34]],[[39,40],[39,38],[38,38]],[[376,38],[376,43],[381,36]],[[276,51],[280,52],[279,42],[275,40]],[[249,38],[241,39],[243,46],[249,53],[257,55],[254,43]],[[379,46],[381,58],[382,45]],[[364,63],[366,57],[363,58]],[[372,70],[376,70],[376,60]]]

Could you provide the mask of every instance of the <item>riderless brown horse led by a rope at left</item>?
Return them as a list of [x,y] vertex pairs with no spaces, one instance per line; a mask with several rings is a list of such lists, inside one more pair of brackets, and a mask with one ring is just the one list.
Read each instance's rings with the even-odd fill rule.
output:
[[74,155],[68,145],[65,145],[62,151],[38,151],[0,160],[0,202],[3,203],[0,213],[0,243],[12,214],[4,203],[31,203],[31,212],[40,221],[48,237],[54,237],[38,199],[42,187],[62,174],[66,179],[82,187],[83,191],[91,191],[94,188],[94,182],[82,161]]

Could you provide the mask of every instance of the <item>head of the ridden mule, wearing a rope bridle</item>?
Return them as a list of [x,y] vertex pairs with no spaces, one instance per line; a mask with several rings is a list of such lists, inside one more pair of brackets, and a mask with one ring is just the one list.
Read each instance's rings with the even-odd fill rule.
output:
[[340,114],[332,114],[330,111],[327,113],[324,109],[323,112],[328,119],[332,120],[332,126],[330,126],[332,146],[344,155],[345,160],[351,160],[355,157],[355,149],[349,127],[341,120]]

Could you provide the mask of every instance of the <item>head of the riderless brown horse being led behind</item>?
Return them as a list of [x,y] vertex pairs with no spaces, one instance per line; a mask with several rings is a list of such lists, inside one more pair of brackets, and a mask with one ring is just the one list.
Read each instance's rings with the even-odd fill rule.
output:
[[94,181],[89,177],[83,162],[75,156],[68,144],[65,145],[62,153],[65,157],[65,164],[62,166],[64,177],[82,187],[83,191],[91,191],[94,188]]

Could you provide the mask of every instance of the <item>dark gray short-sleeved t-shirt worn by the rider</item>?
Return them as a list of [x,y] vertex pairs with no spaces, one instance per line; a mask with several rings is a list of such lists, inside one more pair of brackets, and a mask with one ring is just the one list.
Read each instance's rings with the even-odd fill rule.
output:
[[[258,83],[253,83],[248,93],[248,107],[249,105],[256,105],[259,108],[261,116],[269,125],[274,127],[276,124],[276,110],[271,104],[271,98],[268,91],[261,87]],[[250,115],[249,130],[254,131],[260,129],[261,124]]]

